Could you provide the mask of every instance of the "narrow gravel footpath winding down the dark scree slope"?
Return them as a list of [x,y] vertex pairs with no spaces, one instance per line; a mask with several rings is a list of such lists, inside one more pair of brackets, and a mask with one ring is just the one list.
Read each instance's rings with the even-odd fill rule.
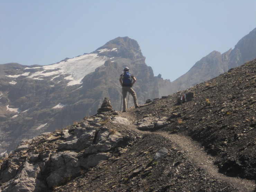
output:
[[120,116],[127,118],[131,122],[131,125],[129,127],[133,130],[136,130],[137,132],[147,134],[159,134],[165,137],[166,139],[173,141],[173,143],[179,150],[183,150],[189,155],[191,160],[194,162],[195,166],[202,168],[203,170],[205,170],[205,172],[212,175],[213,177],[230,183],[241,192],[256,191],[255,182],[252,180],[240,179],[237,177],[228,177],[224,174],[219,173],[218,167],[213,164],[214,157],[208,155],[200,146],[200,144],[197,143],[196,141],[193,141],[191,138],[177,134],[169,134],[168,132],[164,131],[151,132],[138,130],[135,125],[137,119],[132,112],[127,111],[126,113],[121,113]]

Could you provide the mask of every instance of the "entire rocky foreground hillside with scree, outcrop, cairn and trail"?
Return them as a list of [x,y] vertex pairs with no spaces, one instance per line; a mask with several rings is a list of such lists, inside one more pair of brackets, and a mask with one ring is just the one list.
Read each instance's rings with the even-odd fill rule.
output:
[[0,190],[253,192],[255,70],[247,62],[122,113],[105,98],[97,114],[6,154]]

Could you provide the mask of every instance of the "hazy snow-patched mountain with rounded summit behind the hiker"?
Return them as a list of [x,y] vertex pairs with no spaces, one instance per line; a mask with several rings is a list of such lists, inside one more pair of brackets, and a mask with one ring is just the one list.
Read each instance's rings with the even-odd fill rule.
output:
[[133,88],[140,104],[159,97],[158,87],[170,83],[154,76],[138,43],[128,37],[52,65],[0,65],[0,153],[9,152],[22,139],[94,114],[105,97],[119,109],[119,76],[126,66],[137,79]]

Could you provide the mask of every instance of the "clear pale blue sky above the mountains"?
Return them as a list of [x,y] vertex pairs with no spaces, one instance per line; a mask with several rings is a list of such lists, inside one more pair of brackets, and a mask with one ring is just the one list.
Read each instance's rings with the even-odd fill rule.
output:
[[255,0],[0,0],[0,64],[49,65],[128,36],[173,81],[255,27]]

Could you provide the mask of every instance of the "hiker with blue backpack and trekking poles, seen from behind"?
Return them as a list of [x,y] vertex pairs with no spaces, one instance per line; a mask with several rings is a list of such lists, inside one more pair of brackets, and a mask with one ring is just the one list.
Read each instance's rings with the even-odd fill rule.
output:
[[131,88],[134,85],[134,83],[136,82],[136,78],[133,75],[130,74],[128,67],[125,67],[123,70],[124,70],[124,73],[120,75],[119,81],[120,81],[121,86],[122,86],[123,112],[126,112],[126,108],[127,108],[127,106],[126,106],[127,91],[133,97],[135,108],[138,108],[139,105],[137,103],[136,93]]

